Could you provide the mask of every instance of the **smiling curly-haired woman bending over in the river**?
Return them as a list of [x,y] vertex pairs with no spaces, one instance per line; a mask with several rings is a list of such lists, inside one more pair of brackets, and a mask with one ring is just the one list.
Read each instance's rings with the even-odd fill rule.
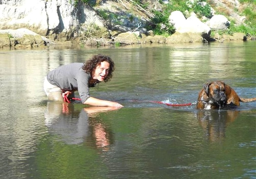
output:
[[74,97],[74,92],[78,90],[83,104],[123,107],[117,102],[100,100],[89,94],[89,87],[110,81],[114,70],[115,64],[110,57],[94,55],[86,63],[70,63],[50,71],[44,80],[44,91],[49,100],[63,101],[64,95]]

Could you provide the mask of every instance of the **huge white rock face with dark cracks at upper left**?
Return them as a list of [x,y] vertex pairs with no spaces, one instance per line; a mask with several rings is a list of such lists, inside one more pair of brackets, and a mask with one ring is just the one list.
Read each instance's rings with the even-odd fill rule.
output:
[[79,24],[104,24],[89,6],[69,0],[8,0],[0,4],[0,29],[27,28],[40,35],[70,31]]

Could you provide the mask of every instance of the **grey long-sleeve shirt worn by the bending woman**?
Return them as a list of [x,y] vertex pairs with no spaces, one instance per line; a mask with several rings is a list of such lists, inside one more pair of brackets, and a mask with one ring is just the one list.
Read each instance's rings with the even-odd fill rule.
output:
[[83,63],[70,63],[62,65],[47,74],[47,80],[50,84],[60,87],[63,91],[77,91],[80,95],[82,103],[89,97],[89,85],[91,74],[86,73],[82,69]]

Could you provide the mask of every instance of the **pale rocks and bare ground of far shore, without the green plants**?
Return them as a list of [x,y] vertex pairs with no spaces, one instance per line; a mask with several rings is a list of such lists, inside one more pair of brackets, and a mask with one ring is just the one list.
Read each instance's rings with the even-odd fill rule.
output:
[[[180,11],[173,11],[170,13],[169,23],[174,25],[175,33],[163,36],[155,35],[152,30],[145,28],[152,14],[142,10],[134,11],[136,16],[125,13],[120,11],[120,3],[115,1],[106,1],[95,9],[84,4],[70,5],[68,1],[60,0],[42,0],[36,6],[33,6],[34,3],[29,0],[9,0],[0,4],[0,12],[4,14],[0,17],[0,48],[35,48],[63,43],[80,46],[122,46],[253,39],[244,33],[219,33],[230,25],[228,19],[219,14],[202,22],[194,13],[186,14],[186,18]],[[122,6],[127,10],[133,8],[129,3]],[[111,13],[118,14],[118,17],[106,20],[99,16],[99,12],[110,10]],[[238,24],[243,23],[243,17],[236,16],[236,19]],[[212,31],[215,33],[211,33]]]

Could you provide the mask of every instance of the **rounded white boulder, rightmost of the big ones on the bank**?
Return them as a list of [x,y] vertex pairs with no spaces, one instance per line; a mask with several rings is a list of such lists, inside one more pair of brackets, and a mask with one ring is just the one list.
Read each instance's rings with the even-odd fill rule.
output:
[[206,22],[206,24],[213,30],[225,30],[229,27],[230,22],[227,17],[217,14],[212,16],[212,18]]

